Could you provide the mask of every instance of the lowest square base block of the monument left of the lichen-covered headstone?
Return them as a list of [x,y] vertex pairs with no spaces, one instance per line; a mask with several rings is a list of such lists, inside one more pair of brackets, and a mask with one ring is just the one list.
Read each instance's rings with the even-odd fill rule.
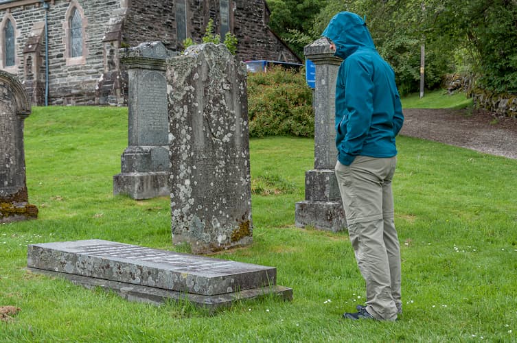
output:
[[170,197],[170,173],[120,173],[113,176],[113,195],[127,194],[135,200]]

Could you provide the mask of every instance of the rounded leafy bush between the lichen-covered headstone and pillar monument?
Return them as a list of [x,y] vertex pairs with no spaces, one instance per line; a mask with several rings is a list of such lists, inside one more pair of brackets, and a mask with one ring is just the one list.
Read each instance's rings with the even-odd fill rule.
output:
[[272,67],[249,73],[248,106],[250,137],[314,137],[312,91],[303,72]]

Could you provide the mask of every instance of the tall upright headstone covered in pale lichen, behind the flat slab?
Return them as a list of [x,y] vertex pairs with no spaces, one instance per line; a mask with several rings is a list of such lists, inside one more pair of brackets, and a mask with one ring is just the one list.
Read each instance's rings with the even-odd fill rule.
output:
[[174,244],[213,252],[252,241],[246,67],[224,45],[168,60]]

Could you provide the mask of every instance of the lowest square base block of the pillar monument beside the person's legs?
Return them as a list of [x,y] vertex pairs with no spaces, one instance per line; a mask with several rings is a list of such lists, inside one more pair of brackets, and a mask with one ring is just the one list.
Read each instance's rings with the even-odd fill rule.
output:
[[314,226],[318,230],[337,232],[347,228],[343,204],[338,201],[310,201],[296,203],[295,225]]

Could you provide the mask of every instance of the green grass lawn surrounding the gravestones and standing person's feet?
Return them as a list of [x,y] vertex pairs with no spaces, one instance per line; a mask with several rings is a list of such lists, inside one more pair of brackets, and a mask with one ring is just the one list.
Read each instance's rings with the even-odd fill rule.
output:
[[130,303],[25,270],[27,244],[108,239],[175,250],[168,198],[113,197],[127,109],[33,108],[25,121],[29,199],[38,220],[0,225],[0,342],[515,342],[517,161],[398,138],[395,223],[404,314],[347,322],[365,300],[347,233],[294,224],[314,141],[251,140],[253,245],[216,255],[272,265],[294,300],[236,303],[209,316],[188,304]]

